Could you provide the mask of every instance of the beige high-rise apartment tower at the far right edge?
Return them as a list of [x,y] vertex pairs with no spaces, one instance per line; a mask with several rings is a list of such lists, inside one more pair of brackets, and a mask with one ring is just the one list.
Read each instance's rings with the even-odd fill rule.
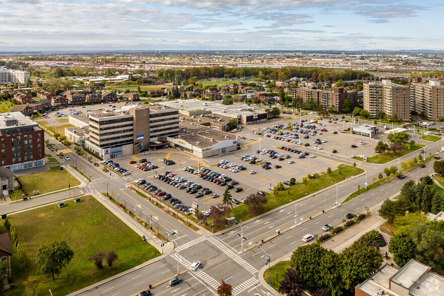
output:
[[410,80],[410,108],[430,120],[444,116],[444,83],[439,80]]

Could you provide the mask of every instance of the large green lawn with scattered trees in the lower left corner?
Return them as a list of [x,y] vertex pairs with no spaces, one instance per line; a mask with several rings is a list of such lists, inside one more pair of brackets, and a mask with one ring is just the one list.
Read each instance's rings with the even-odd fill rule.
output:
[[[67,201],[65,204],[63,208],[48,205],[9,216],[18,234],[19,246],[27,252],[31,263],[29,271],[21,270],[17,265],[17,251],[13,248],[11,266],[16,287],[9,290],[8,295],[32,294],[25,290],[22,282],[36,273],[36,251],[44,242],[64,240],[74,251],[74,257],[54,281],[45,278],[37,290],[38,295],[48,294],[48,289],[54,296],[66,295],[160,255],[92,196],[81,197],[79,203]],[[6,231],[3,223],[2,230]],[[111,250],[119,256],[112,269],[104,262],[105,266],[99,270],[87,260],[98,251]]]

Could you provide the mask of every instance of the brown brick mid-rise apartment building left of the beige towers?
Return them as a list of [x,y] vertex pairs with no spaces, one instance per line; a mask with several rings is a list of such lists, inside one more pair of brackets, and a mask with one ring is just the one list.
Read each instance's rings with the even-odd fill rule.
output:
[[328,110],[330,106],[335,106],[336,110],[342,112],[342,104],[345,98],[349,98],[353,103],[353,108],[357,106],[357,92],[355,91],[345,91],[344,88],[332,88],[328,90],[318,90],[311,88],[297,88],[289,89],[288,95],[292,96],[293,99],[300,97],[303,102],[308,98],[313,98],[316,106],[321,105],[322,109]]

